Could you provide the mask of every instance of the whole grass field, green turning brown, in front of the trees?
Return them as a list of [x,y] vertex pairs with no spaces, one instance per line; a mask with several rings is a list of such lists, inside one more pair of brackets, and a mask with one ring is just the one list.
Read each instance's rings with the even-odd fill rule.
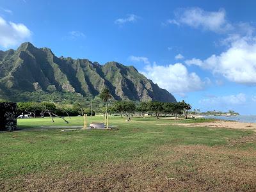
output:
[[0,191],[256,191],[256,132],[119,116],[110,131],[53,128],[83,125],[67,120],[20,119],[20,131],[0,132]]

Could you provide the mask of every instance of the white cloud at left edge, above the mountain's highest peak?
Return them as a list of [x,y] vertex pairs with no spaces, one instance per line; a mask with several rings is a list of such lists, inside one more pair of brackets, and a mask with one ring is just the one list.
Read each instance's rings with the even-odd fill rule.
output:
[[31,37],[31,31],[24,24],[15,24],[6,22],[0,17],[0,45],[7,48],[28,40]]

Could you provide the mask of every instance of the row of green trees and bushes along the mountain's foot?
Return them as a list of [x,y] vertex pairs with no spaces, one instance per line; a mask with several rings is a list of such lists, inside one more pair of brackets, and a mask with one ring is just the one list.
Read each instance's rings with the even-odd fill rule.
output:
[[[108,96],[109,97],[109,96]],[[111,98],[111,97],[109,97]],[[99,99],[99,98],[98,98]],[[95,100],[98,100],[95,99]],[[108,104],[108,102],[107,102]],[[191,106],[184,102],[140,102],[135,103],[131,100],[118,100],[115,102],[109,102],[108,110],[111,113],[119,113],[121,116],[127,116],[127,119],[130,120],[132,114],[136,113],[137,115],[144,115],[145,113],[151,113],[159,118],[160,115],[182,115],[188,116]],[[17,108],[17,115],[21,113],[32,113],[33,116],[51,116],[48,112],[54,113],[58,116],[77,116],[77,115],[87,115],[91,114],[91,109],[89,105],[85,105],[80,102],[75,104],[58,104],[53,102],[19,102]],[[92,115],[95,113],[106,113],[107,105],[103,104],[95,107],[93,106]]]

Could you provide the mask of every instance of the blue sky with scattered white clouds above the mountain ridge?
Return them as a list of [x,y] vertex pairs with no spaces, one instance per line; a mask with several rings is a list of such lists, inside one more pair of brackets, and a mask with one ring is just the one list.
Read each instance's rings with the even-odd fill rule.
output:
[[0,0],[0,50],[133,65],[200,111],[256,114],[256,1]]

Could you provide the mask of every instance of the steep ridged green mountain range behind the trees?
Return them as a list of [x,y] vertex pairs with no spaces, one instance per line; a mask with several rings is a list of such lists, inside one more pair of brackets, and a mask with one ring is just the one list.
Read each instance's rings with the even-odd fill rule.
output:
[[172,94],[132,66],[114,61],[100,65],[86,59],[58,58],[51,49],[38,49],[28,42],[16,51],[0,51],[1,99],[47,100],[49,95],[54,101],[67,95],[92,98],[104,87],[111,90],[116,100],[176,102]]

